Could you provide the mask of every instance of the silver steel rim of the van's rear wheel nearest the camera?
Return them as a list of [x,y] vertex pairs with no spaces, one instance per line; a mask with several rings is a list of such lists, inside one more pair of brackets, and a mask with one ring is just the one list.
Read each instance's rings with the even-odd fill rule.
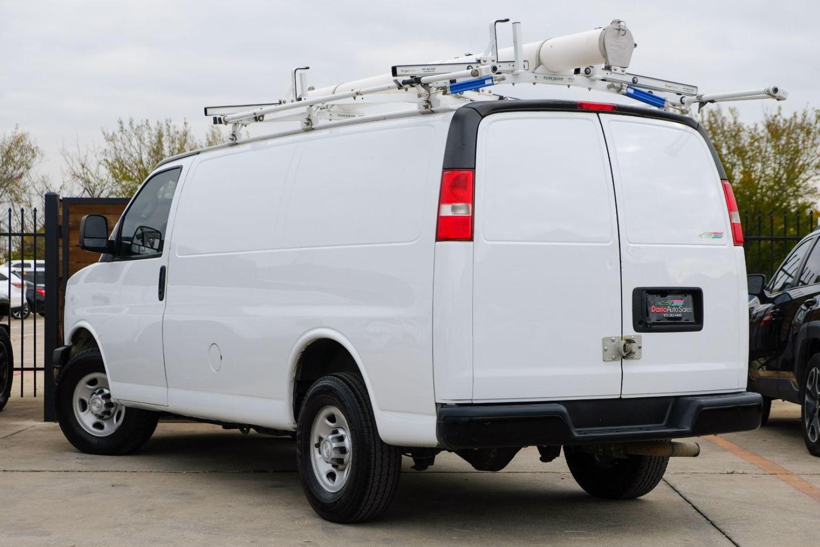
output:
[[322,408],[313,420],[310,434],[313,474],[328,492],[342,490],[348,481],[353,457],[349,431],[348,421],[339,408]]

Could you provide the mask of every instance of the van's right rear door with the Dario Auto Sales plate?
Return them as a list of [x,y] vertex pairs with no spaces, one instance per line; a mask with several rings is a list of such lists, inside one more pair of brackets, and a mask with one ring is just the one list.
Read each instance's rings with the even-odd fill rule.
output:
[[[623,396],[745,387],[743,248],[708,145],[687,125],[600,114],[617,196],[625,359]],[[744,281],[744,282],[741,282]]]

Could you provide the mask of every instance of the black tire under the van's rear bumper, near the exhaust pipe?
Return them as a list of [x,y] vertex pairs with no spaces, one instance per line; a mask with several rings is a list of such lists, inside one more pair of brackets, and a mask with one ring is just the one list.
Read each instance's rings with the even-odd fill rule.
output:
[[634,499],[649,494],[666,472],[666,456],[608,458],[565,446],[572,477],[587,494],[604,499]]

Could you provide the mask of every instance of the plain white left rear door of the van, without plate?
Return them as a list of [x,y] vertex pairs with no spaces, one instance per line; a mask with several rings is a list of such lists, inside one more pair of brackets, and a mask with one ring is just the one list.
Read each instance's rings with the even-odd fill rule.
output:
[[594,112],[503,112],[476,139],[473,400],[617,397],[617,216]]

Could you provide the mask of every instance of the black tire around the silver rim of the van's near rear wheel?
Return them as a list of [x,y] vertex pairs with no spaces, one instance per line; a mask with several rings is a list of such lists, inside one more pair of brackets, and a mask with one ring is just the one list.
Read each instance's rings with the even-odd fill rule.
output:
[[[347,481],[338,492],[330,492],[317,479],[312,450],[312,427],[328,406],[339,408],[348,423],[350,461]],[[296,456],[307,501],[320,517],[330,522],[362,522],[382,513],[399,485],[402,454],[385,444],[376,431],[373,408],[362,379],[349,373],[323,376],[308,390],[298,417]]]

